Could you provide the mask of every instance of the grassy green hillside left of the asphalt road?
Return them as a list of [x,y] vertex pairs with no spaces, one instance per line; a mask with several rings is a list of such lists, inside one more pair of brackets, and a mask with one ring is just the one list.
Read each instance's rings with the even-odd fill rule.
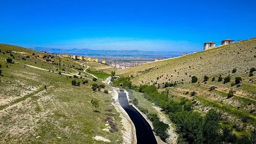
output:
[[[93,91],[91,84],[102,83],[91,81],[79,62],[14,45],[0,44],[0,49],[0,143],[104,143],[94,140],[96,135],[120,143],[121,119],[111,96],[103,92],[111,88]],[[69,77],[76,74],[78,78]],[[72,86],[72,80],[81,85]],[[82,84],[85,80],[89,83]],[[99,112],[92,99],[99,101]],[[112,130],[107,118],[117,131],[106,131]]]

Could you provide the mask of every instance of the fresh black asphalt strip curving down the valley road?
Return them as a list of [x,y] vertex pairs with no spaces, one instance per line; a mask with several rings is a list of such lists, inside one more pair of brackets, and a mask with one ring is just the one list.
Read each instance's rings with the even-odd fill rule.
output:
[[137,144],[157,144],[149,123],[135,108],[128,105],[126,93],[119,93],[118,100],[135,125]]

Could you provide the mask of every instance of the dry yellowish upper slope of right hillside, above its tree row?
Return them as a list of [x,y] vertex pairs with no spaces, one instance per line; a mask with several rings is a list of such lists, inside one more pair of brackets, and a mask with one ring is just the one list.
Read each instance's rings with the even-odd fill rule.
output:
[[123,69],[117,74],[132,75],[134,84],[153,84],[190,80],[189,75],[203,77],[212,74],[228,74],[235,67],[237,73],[245,74],[248,69],[255,67],[255,63],[256,38],[252,38],[184,57]]

